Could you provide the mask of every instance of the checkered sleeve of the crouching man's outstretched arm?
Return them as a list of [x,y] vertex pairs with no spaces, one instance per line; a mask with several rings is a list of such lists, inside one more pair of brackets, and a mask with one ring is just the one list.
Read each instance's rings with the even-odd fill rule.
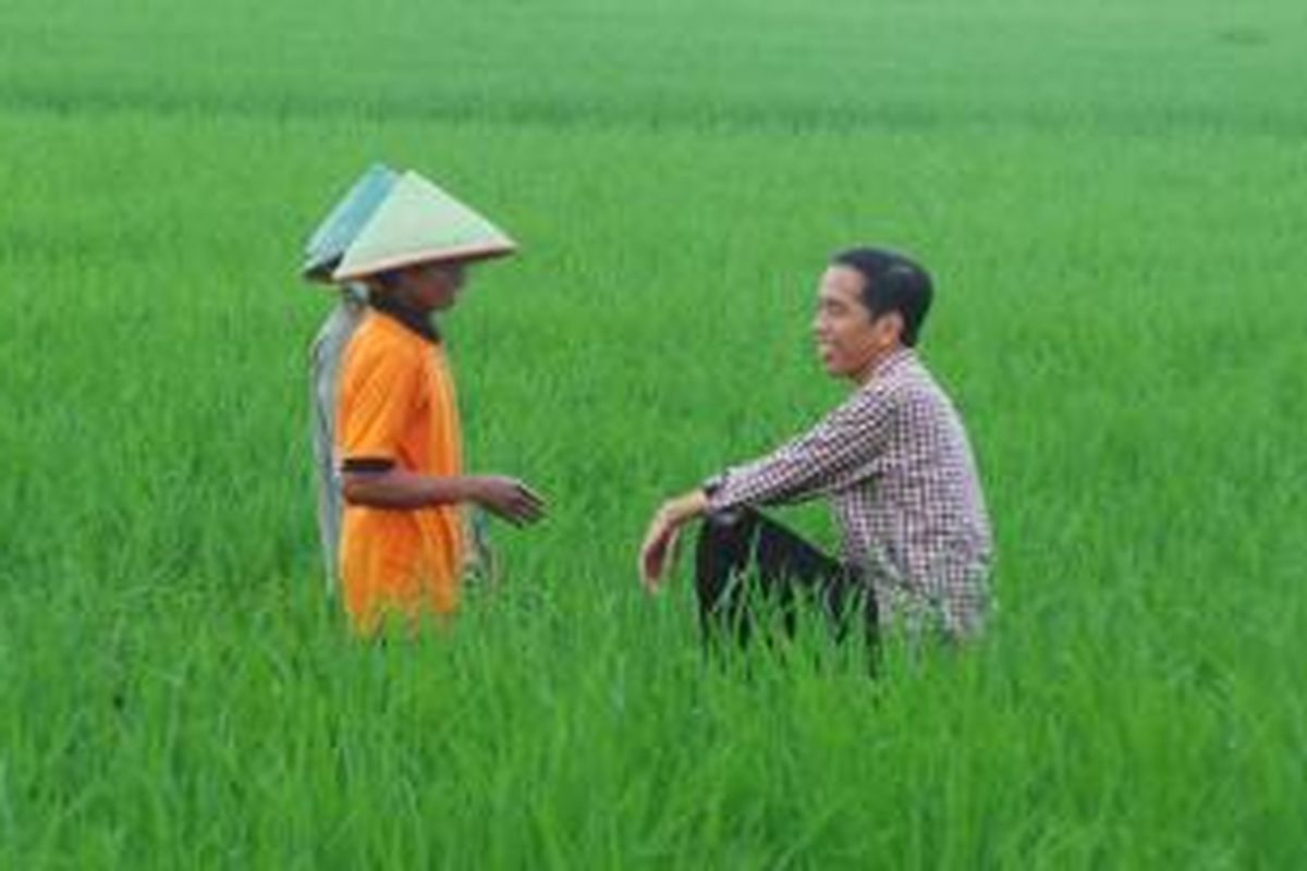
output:
[[890,396],[856,393],[797,439],[718,475],[706,487],[708,509],[806,501],[863,481],[884,453],[893,411]]

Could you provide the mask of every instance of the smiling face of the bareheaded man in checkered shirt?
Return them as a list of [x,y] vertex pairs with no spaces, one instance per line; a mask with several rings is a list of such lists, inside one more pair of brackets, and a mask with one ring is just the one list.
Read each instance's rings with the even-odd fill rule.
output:
[[872,317],[863,303],[863,273],[834,265],[817,286],[813,337],[817,355],[830,375],[864,380],[876,363],[898,346],[903,329],[895,313]]

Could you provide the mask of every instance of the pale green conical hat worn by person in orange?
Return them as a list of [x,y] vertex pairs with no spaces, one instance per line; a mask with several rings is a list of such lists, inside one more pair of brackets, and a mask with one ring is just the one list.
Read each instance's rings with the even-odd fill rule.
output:
[[400,176],[332,278],[353,281],[437,260],[478,260],[512,253],[516,243],[417,172]]

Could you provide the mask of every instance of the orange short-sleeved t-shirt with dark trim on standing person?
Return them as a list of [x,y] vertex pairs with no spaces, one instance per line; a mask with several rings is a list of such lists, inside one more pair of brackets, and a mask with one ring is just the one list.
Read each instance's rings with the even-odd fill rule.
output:
[[[369,311],[345,351],[336,434],[342,464],[384,460],[404,471],[463,474],[444,349]],[[346,505],[340,558],[345,607],[358,631],[374,631],[393,611],[450,614],[457,607],[461,509]]]

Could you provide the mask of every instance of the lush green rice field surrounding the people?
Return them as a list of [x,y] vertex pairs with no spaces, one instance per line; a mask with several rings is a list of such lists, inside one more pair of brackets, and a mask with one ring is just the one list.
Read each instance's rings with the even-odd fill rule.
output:
[[[0,868],[1307,866],[1304,97],[1293,0],[4,0]],[[521,242],[442,326],[550,500],[384,645],[297,274],[372,161]],[[646,521],[839,401],[857,243],[936,277],[996,618],[706,663]]]

